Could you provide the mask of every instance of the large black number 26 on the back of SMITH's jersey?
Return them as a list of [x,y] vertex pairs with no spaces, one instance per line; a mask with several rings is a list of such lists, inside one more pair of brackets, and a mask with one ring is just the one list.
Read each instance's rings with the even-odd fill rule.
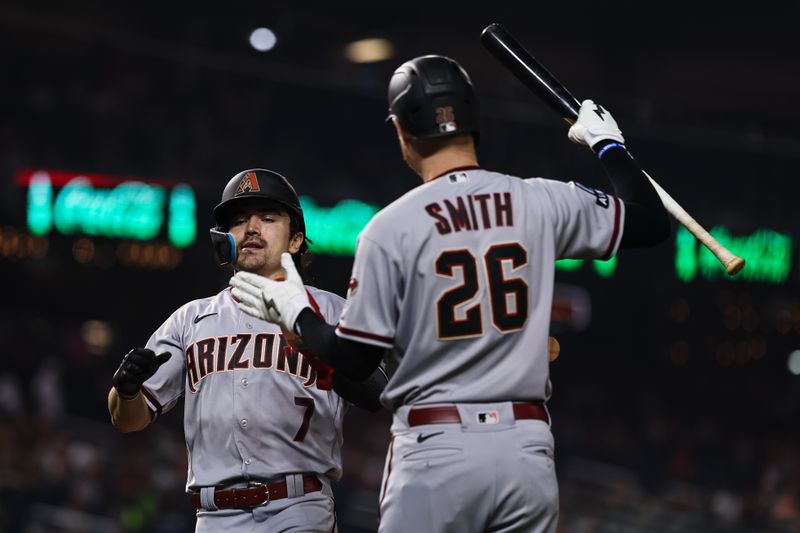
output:
[[[442,340],[463,339],[483,335],[482,301],[461,311],[456,309],[470,302],[480,290],[481,279],[489,287],[492,325],[500,333],[519,331],[528,320],[528,283],[522,277],[506,278],[504,264],[511,272],[528,264],[528,251],[518,242],[493,244],[479,263],[467,248],[445,250],[434,263],[436,275],[456,279],[461,271],[462,283],[444,291],[436,300],[437,337]],[[482,267],[482,268],[481,268]],[[481,272],[483,271],[483,276]]]

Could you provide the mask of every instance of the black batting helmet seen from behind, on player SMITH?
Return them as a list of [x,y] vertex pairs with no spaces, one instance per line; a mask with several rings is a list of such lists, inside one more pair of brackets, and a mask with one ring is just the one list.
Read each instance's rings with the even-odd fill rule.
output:
[[389,82],[389,117],[417,139],[472,133],[478,140],[478,100],[461,65],[445,56],[417,57]]

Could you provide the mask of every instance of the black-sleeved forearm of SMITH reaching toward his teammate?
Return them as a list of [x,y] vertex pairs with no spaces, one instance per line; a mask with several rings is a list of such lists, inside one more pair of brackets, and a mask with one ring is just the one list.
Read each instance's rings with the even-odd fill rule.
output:
[[297,317],[297,330],[314,356],[354,381],[369,377],[378,368],[385,351],[378,346],[339,337],[336,327],[310,308]]

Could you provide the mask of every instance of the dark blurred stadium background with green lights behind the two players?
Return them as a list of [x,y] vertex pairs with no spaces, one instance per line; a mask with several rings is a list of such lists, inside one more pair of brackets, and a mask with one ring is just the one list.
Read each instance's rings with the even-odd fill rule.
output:
[[[0,3],[0,531],[193,531],[182,409],[120,435],[111,375],[226,284],[206,231],[241,169],[295,184],[315,284],[344,294],[355,234],[418,183],[384,124],[406,59],[471,73],[483,166],[608,188],[481,48],[490,22],[612,110],[748,261],[726,279],[676,225],[658,249],[560,265],[560,530],[800,531],[800,3],[493,4]],[[348,415],[342,533],[375,528],[389,422]]]

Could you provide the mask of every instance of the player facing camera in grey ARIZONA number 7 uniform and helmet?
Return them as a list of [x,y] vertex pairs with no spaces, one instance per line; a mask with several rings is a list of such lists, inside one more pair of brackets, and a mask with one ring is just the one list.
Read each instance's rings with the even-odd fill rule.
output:
[[[213,214],[221,264],[280,279],[285,253],[299,275],[305,222],[286,178],[240,172]],[[321,320],[336,324],[344,299],[303,290]],[[198,532],[336,530],[330,481],[342,475],[342,398],[377,410],[386,377],[378,369],[350,381],[291,337],[242,312],[226,288],[175,311],[114,374],[109,412],[123,432],[144,429],[184,398],[186,488]]]

